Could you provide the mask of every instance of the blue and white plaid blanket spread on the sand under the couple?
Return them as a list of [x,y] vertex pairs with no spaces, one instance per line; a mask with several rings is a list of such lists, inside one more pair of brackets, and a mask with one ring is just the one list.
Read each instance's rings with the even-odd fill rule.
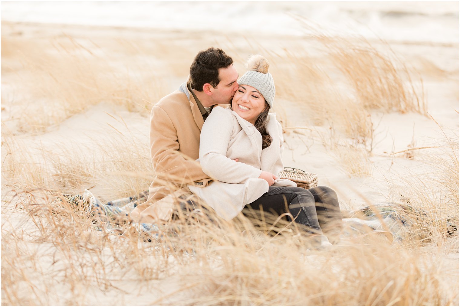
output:
[[[92,218],[95,227],[99,231],[109,231],[122,234],[126,227],[131,225],[137,232],[148,234],[148,240],[159,239],[164,234],[177,235],[164,225],[131,223],[127,217],[134,208],[145,202],[149,191],[139,193],[136,196],[116,199],[107,203],[99,201],[90,191],[75,196],[64,195],[67,201],[75,206],[83,206],[89,218]],[[184,198],[181,207],[196,205],[192,199]],[[380,202],[365,206],[359,210],[347,214],[344,222],[344,236],[355,238],[371,233],[385,233],[386,239],[392,243],[403,243],[409,239],[426,239],[431,235],[430,226],[433,219],[426,211],[414,208],[407,199],[401,202]],[[451,220],[446,221],[447,233],[452,235],[458,230],[458,226]]]

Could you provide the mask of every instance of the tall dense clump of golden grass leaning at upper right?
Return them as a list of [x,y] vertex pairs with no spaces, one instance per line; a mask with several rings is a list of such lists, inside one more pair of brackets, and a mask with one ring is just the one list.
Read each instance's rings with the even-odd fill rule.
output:
[[389,46],[385,55],[364,39],[355,44],[337,37],[318,36],[318,40],[328,48],[363,108],[426,114],[423,90],[416,92],[411,80],[414,71]]

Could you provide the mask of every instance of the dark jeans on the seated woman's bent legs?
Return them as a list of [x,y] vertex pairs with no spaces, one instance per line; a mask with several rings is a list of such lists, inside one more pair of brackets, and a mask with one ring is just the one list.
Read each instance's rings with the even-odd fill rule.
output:
[[[334,190],[328,187],[308,190],[298,187],[269,187],[267,193],[245,206],[245,209],[253,210],[243,210],[243,213],[248,217],[255,217],[259,208],[275,216],[289,212],[295,222],[307,226],[307,230],[312,233],[335,237],[342,231],[339,200]],[[291,221],[289,217],[288,221]]]

